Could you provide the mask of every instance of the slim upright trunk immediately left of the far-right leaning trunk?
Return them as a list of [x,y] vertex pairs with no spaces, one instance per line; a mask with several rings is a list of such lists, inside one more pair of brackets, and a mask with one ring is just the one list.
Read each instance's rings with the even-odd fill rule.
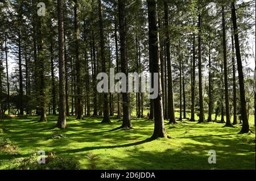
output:
[[233,124],[237,124],[237,83],[236,83],[236,62],[234,52],[234,36],[231,36],[232,42],[232,70],[233,70]]

